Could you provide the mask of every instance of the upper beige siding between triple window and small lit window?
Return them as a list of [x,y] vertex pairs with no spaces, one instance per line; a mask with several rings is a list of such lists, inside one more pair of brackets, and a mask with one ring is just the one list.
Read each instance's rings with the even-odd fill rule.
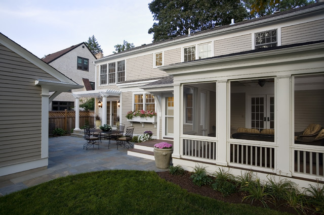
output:
[[166,72],[153,68],[153,54],[126,60],[126,81],[166,76]]

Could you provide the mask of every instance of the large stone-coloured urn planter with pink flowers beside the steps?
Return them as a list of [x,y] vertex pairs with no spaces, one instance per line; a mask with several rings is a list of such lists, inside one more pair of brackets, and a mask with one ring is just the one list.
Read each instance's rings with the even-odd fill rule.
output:
[[170,166],[173,145],[160,142],[154,145],[155,166],[159,169],[167,169]]

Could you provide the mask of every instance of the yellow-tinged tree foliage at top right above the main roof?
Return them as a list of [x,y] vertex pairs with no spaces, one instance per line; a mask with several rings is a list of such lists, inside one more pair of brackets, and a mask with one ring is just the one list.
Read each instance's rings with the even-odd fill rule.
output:
[[315,3],[313,0],[245,0],[252,18],[273,14],[275,11],[288,11]]

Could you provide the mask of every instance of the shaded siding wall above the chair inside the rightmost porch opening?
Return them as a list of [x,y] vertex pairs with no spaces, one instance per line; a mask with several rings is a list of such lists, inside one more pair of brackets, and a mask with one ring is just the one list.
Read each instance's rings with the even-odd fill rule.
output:
[[309,124],[324,127],[324,90],[295,91],[295,131],[303,131]]

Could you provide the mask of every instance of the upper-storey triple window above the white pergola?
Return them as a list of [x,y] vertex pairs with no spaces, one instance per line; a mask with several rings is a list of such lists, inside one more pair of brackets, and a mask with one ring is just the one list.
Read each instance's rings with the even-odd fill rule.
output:
[[115,84],[125,81],[125,60],[100,66],[100,84]]

